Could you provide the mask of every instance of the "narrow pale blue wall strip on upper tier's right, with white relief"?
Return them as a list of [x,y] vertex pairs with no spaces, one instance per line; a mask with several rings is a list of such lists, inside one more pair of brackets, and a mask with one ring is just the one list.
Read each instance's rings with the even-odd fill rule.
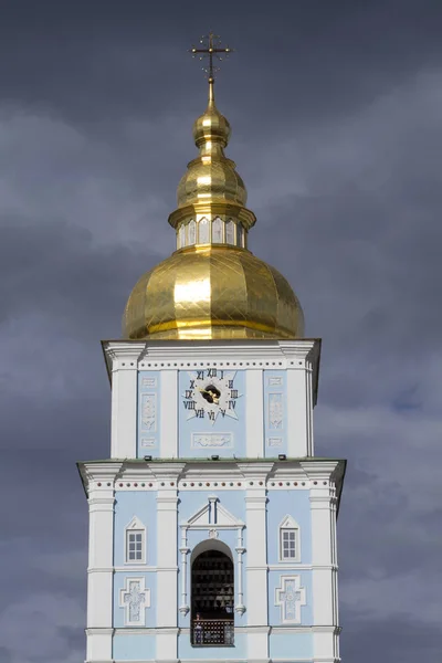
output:
[[[287,453],[287,373],[285,370],[264,370],[264,455],[276,457]],[[281,383],[276,383],[281,382]],[[282,407],[282,421],[274,423],[270,420],[270,401],[278,399]]]

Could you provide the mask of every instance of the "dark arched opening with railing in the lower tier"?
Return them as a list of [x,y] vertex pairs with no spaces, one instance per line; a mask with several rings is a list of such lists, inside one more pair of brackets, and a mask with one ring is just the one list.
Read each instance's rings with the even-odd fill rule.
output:
[[232,645],[233,611],[233,561],[220,549],[203,550],[192,564],[192,644],[196,646]]

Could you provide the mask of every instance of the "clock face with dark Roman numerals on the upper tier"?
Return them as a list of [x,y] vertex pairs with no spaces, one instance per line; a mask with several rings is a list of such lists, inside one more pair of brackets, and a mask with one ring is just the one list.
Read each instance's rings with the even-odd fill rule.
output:
[[235,386],[236,371],[207,368],[189,371],[188,387],[182,394],[187,419],[197,417],[212,424],[218,417],[238,419],[236,400],[242,396]]

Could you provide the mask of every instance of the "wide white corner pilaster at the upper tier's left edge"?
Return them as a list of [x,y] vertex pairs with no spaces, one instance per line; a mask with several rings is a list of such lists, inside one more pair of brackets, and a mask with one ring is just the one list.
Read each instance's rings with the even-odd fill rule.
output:
[[137,456],[138,352],[115,350],[112,364],[110,457]]

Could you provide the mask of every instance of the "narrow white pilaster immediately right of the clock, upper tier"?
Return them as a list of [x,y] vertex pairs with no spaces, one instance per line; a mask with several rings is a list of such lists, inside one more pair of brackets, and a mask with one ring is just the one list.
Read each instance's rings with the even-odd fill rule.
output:
[[264,456],[263,371],[249,369],[245,373],[245,453],[248,459]]

